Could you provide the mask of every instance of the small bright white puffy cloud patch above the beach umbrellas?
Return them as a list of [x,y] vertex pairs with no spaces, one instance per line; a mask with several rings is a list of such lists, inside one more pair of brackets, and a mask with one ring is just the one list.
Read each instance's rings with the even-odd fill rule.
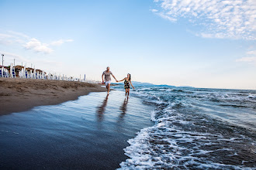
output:
[[42,43],[37,39],[30,39],[29,42],[26,42],[24,46],[26,49],[33,49],[35,52],[42,52],[42,53],[51,53],[54,50],[50,49],[46,43]]

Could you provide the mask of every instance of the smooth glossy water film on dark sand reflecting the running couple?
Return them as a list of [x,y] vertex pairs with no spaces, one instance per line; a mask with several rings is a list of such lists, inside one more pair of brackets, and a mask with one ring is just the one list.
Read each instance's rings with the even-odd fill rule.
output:
[[114,169],[123,148],[153,125],[150,111],[124,93],[89,93],[78,100],[0,117],[0,168]]

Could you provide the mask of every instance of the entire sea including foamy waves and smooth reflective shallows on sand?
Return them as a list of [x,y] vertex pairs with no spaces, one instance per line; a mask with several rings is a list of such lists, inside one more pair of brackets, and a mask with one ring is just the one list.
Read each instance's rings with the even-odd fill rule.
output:
[[256,90],[134,85],[0,116],[0,169],[256,169]]

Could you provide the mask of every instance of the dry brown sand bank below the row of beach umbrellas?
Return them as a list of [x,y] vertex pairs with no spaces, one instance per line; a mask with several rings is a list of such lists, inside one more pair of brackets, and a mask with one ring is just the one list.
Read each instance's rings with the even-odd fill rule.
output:
[[61,104],[99,91],[106,91],[106,88],[99,84],[73,81],[0,78],[0,115],[36,106]]

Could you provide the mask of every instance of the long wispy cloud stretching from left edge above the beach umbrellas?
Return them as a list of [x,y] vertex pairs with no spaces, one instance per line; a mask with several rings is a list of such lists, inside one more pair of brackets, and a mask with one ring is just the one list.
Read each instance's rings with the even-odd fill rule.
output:
[[64,42],[73,42],[73,39],[59,39],[53,42],[45,43],[39,39],[29,37],[22,32],[7,31],[0,33],[0,43],[4,45],[18,45],[23,46],[25,49],[31,49],[36,53],[49,54],[54,52],[54,46],[61,46]]

